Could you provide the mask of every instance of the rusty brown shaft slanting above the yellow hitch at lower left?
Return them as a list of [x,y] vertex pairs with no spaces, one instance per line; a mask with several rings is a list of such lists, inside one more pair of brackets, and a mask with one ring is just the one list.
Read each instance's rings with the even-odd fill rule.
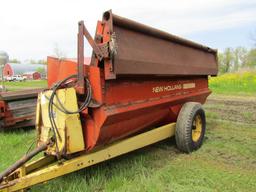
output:
[[50,142],[43,143],[37,148],[35,148],[30,153],[24,155],[20,160],[18,160],[16,163],[14,163],[12,166],[7,168],[5,171],[0,173],[0,183],[3,181],[3,179],[7,176],[9,176],[12,172],[20,168],[22,165],[24,165],[26,162],[28,162],[30,159],[32,159],[34,156],[36,156],[38,153],[44,151],[47,149]]

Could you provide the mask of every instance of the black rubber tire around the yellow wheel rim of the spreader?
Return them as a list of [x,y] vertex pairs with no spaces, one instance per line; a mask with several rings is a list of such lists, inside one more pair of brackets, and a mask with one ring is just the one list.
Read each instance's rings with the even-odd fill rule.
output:
[[[194,142],[192,139],[193,121],[197,115],[202,120],[202,131],[199,139]],[[179,150],[191,153],[201,147],[206,129],[205,112],[200,103],[185,103],[178,115],[175,130],[175,140]]]

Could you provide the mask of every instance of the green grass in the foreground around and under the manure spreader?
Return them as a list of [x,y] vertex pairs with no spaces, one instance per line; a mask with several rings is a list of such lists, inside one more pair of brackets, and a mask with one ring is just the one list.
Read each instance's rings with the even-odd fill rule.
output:
[[[216,116],[207,111],[205,142],[192,154],[180,153],[171,139],[32,191],[255,191],[256,125],[216,121]],[[0,170],[26,152],[34,135],[34,130],[0,133]]]

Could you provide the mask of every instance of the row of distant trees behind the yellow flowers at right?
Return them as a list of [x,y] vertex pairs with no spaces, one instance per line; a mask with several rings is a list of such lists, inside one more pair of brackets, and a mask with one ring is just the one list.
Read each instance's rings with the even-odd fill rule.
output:
[[226,48],[218,53],[219,73],[256,69],[256,48]]

